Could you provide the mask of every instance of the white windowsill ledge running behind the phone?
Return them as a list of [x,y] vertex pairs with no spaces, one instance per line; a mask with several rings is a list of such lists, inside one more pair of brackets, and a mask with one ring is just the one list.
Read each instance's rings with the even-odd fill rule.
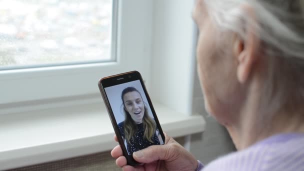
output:
[[[153,103],[163,131],[177,137],[202,132],[201,115]],[[0,170],[112,149],[114,131],[102,103],[11,113],[0,121]],[[17,119],[16,119],[17,118]]]

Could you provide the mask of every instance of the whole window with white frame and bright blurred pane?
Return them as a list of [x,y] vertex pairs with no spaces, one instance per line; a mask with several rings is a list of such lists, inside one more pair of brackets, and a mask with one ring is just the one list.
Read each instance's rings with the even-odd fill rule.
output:
[[[0,31],[0,104],[99,95],[97,81],[100,77],[129,70],[138,70],[148,78],[152,2],[0,0],[0,4],[3,3],[5,5],[0,5],[0,12],[10,11],[10,14],[0,15],[0,27],[3,28]],[[20,21],[12,23],[13,19],[17,20],[18,12],[7,9],[9,6],[14,12],[23,13],[23,17],[24,11],[32,13],[29,18],[33,17],[35,24],[39,23],[36,27],[48,30],[46,32],[50,35],[40,35],[33,31],[33,27],[25,29]],[[106,10],[98,11],[101,8]],[[106,12],[111,12],[108,21]],[[86,20],[90,20],[91,25]],[[76,23],[81,24],[80,27]],[[19,31],[21,28],[31,32]],[[65,31],[76,33],[71,36],[72,33],[66,35]],[[30,41],[25,41],[28,39]]]

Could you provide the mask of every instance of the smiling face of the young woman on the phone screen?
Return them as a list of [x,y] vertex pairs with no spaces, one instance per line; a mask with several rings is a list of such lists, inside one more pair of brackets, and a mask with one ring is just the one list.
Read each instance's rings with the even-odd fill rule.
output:
[[125,93],[123,95],[123,105],[136,124],[142,123],[144,104],[137,91]]

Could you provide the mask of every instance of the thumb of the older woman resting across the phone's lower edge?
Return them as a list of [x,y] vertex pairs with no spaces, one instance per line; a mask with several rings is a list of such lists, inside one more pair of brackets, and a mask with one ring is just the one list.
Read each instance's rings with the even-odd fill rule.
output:
[[145,149],[133,152],[133,158],[141,163],[150,163],[156,160],[166,160],[174,154],[170,145],[152,145]]

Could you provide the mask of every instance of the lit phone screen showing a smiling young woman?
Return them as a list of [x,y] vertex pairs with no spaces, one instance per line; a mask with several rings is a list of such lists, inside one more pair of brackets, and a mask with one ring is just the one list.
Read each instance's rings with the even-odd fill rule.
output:
[[104,92],[128,155],[164,143],[139,79],[105,87]]

